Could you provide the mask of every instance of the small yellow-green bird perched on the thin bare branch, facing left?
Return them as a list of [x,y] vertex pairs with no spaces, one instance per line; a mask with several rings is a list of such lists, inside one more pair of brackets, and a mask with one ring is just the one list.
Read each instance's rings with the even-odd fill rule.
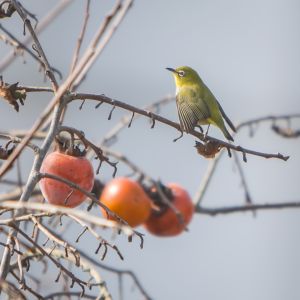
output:
[[175,79],[176,105],[181,130],[190,133],[196,126],[208,125],[206,136],[212,124],[222,131],[227,140],[233,142],[224,120],[234,132],[235,126],[198,73],[188,66],[166,69],[173,73]]

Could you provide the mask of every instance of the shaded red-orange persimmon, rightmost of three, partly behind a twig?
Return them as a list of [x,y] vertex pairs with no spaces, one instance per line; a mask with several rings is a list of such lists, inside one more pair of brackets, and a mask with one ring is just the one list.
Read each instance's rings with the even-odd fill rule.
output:
[[188,192],[176,183],[170,183],[167,188],[172,194],[170,201],[181,213],[182,220],[178,218],[174,210],[165,204],[159,205],[160,211],[152,210],[144,227],[150,233],[157,236],[175,236],[182,233],[192,220],[194,205]]

